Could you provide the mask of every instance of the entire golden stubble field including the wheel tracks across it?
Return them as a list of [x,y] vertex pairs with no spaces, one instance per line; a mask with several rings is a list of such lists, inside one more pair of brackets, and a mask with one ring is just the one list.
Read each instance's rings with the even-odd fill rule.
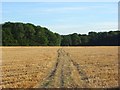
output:
[[2,47],[0,86],[118,87],[118,47]]

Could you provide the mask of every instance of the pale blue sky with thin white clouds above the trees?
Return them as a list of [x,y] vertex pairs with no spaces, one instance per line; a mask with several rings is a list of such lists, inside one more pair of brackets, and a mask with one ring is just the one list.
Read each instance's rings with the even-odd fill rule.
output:
[[24,22],[59,34],[118,30],[117,2],[3,2],[2,23]]

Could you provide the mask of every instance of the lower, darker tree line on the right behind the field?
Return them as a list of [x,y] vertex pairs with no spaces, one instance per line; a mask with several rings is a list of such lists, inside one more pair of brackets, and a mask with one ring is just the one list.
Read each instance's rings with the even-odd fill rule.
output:
[[119,46],[120,31],[62,35],[62,46]]

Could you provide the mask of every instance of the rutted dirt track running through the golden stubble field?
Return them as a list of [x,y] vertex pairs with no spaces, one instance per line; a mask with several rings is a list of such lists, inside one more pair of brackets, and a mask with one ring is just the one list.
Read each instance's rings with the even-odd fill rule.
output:
[[56,63],[42,82],[35,88],[87,88],[89,81],[79,64],[63,48],[58,49]]

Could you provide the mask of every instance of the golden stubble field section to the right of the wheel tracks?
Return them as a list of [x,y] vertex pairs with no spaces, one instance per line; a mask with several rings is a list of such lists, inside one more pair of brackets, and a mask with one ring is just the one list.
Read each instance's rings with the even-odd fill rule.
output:
[[118,87],[118,47],[64,48],[82,69],[91,88]]

